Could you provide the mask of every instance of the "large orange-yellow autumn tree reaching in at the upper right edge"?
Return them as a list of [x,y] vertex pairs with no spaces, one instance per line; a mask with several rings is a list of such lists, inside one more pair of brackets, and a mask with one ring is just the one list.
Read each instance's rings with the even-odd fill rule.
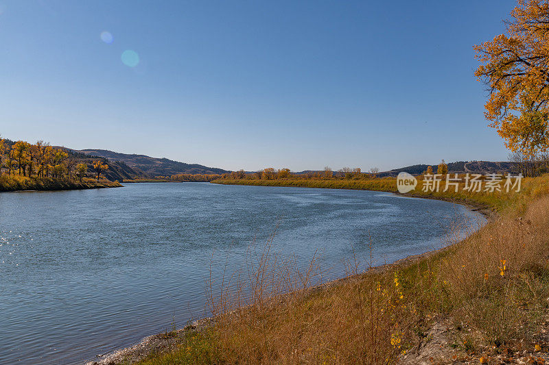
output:
[[518,0],[506,34],[475,46],[475,75],[490,92],[484,113],[506,147],[533,157],[549,148],[549,3]]

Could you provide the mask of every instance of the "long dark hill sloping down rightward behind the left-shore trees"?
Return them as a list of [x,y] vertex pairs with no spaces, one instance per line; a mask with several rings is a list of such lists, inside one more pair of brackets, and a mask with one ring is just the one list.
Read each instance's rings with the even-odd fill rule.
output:
[[130,155],[106,149],[82,149],[75,152],[106,158],[109,162],[119,162],[120,166],[125,165],[136,173],[143,173],[148,177],[171,176],[180,173],[223,174],[231,172],[222,168],[208,167],[200,164],[185,164],[185,162],[177,162],[168,160],[167,158],[152,158],[147,155]]

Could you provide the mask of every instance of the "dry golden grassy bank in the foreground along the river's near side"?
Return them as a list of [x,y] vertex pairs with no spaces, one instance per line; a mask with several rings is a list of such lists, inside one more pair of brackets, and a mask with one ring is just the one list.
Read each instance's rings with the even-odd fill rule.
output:
[[[344,188],[391,184],[353,181]],[[213,325],[163,334],[164,345],[139,364],[436,364],[481,357],[497,364],[518,355],[541,363],[536,359],[548,349],[541,326],[549,311],[549,176],[526,179],[513,194],[438,198],[489,204],[499,214],[449,249],[383,269],[357,258],[347,278],[314,290],[314,257],[298,270],[267,243],[244,275],[211,283]]]

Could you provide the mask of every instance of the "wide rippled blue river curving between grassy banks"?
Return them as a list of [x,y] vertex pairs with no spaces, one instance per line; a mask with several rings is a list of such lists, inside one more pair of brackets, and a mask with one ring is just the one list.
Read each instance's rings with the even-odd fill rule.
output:
[[252,242],[377,264],[445,244],[462,205],[386,192],[207,183],[0,193],[0,364],[73,364],[207,315],[210,268],[242,266]]

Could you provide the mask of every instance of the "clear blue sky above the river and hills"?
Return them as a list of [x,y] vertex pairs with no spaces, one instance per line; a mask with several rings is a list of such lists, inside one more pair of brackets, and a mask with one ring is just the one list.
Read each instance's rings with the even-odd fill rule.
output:
[[0,134],[249,171],[506,160],[472,47],[514,5],[0,0]]

